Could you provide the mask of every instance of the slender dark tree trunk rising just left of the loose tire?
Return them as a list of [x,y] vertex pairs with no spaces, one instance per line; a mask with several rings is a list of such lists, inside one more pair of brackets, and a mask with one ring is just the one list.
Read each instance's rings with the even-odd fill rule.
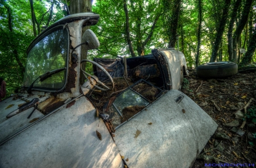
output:
[[196,67],[199,66],[199,55],[200,55],[200,42],[201,42],[201,24],[202,24],[202,3],[201,0],[198,1],[198,29],[197,29],[197,51],[196,51]]

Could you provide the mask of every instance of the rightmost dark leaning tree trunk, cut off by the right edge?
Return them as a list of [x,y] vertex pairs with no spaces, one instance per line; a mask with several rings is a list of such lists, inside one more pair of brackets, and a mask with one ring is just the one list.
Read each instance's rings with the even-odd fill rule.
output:
[[[256,24],[256,19],[254,20],[254,25]],[[248,46],[248,50],[245,53],[245,57],[243,57],[240,64],[238,64],[239,67],[247,66],[251,62],[251,59],[253,59],[253,54],[256,48],[256,26],[254,27],[253,35],[251,36],[251,40]]]

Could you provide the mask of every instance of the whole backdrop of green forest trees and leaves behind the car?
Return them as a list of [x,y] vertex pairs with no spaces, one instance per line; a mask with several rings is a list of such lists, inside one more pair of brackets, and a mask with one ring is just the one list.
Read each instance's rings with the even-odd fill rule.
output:
[[[253,0],[83,0],[100,14],[90,27],[100,47],[93,57],[136,57],[154,48],[182,51],[188,67],[232,61],[255,62],[256,2]],[[75,0],[0,0],[0,77],[10,94],[22,85],[27,47],[43,29],[74,13]]]

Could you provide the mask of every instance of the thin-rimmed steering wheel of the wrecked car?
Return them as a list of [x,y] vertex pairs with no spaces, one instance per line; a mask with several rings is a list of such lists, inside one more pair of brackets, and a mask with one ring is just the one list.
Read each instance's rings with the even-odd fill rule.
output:
[[[107,87],[105,84],[103,84],[100,80],[98,80],[98,77],[97,77],[97,76],[88,74],[87,72],[85,72],[84,70],[82,70],[82,67],[81,67],[81,71],[82,71],[82,73],[84,74],[84,76],[85,76],[85,78],[86,78],[87,80],[89,80],[87,76],[90,76],[90,77],[92,77],[94,80],[96,80],[96,82],[97,82],[98,84],[102,85],[102,87],[105,87],[106,89],[103,89],[103,88],[101,88],[101,87],[98,87],[97,85],[95,85],[94,87],[100,89],[101,91],[108,91],[108,90],[113,90],[113,89],[114,89],[114,81],[113,81],[112,77],[109,75],[109,72],[106,71],[100,64],[98,64],[98,63],[96,63],[96,62],[94,62],[94,61],[90,61],[89,59],[82,59],[82,61],[81,61],[81,63],[80,63],[80,66],[82,66],[82,63],[83,63],[83,62],[90,62],[90,63],[96,65],[98,68],[100,68],[100,69],[109,77],[109,79],[110,79],[110,81],[111,81],[111,83],[112,83],[112,89],[110,89],[110,88]],[[90,80],[89,80],[89,81],[90,81]]]

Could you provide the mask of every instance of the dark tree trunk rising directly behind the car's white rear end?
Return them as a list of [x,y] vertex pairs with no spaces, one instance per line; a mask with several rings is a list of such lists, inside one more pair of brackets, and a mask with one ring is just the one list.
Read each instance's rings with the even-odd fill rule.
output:
[[171,16],[171,23],[170,23],[170,41],[168,44],[168,48],[174,48],[177,36],[177,27],[179,23],[179,16],[180,16],[180,6],[182,0],[175,0],[174,1],[174,10]]

